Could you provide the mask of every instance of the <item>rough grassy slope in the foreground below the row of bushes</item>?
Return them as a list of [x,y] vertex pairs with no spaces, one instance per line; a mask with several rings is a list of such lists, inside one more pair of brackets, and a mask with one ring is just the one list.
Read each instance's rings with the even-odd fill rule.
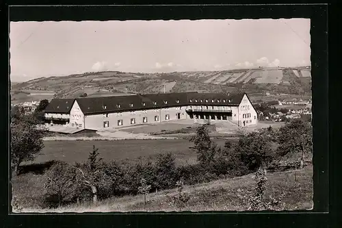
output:
[[[295,176],[297,181],[295,181]],[[183,207],[177,207],[172,202],[172,196],[177,190],[163,190],[150,193],[144,205],[142,195],[114,197],[100,201],[97,205],[79,204],[60,207],[58,209],[38,209],[35,200],[42,196],[42,175],[28,173],[14,177],[14,192],[18,198],[23,198],[27,208],[23,212],[134,212],[134,211],[244,211],[248,205],[244,201],[246,192],[255,188],[251,175],[220,179],[194,186],[185,186],[184,192],[190,194],[189,201]],[[29,190],[29,191],[28,191]],[[268,173],[265,196],[277,199],[285,194],[282,206],[275,210],[311,210],[313,207],[313,166],[305,166],[302,170],[289,170],[278,173]]]

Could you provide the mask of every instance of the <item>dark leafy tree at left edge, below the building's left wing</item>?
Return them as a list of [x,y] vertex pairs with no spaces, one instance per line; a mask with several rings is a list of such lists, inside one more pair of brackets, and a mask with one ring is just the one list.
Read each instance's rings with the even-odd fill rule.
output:
[[11,123],[10,131],[11,165],[18,175],[21,162],[34,160],[35,155],[44,148],[42,138],[46,130],[27,121],[19,121]]

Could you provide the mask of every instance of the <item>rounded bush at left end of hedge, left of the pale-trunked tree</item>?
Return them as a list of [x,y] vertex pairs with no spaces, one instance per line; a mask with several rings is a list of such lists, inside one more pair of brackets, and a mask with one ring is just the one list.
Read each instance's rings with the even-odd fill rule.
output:
[[75,192],[76,170],[66,162],[56,162],[47,171],[44,189],[49,197],[57,197],[58,206]]

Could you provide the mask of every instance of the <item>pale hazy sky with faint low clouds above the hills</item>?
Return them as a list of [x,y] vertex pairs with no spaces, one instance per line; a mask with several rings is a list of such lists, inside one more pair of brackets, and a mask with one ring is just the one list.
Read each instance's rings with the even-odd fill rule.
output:
[[12,81],[310,65],[310,19],[10,23]]

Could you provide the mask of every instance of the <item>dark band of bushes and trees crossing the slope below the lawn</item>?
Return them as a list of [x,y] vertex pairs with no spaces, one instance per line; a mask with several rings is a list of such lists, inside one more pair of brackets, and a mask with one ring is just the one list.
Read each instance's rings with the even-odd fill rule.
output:
[[[285,127],[269,127],[246,134],[239,142],[227,141],[219,147],[209,137],[208,125],[198,127],[191,138],[198,164],[176,166],[171,153],[159,154],[157,160],[137,164],[106,162],[95,147],[88,160],[79,164],[56,162],[47,172],[44,207],[58,207],[78,201],[98,201],[127,194],[146,194],[187,185],[246,175],[258,169],[280,165],[280,160],[294,157],[303,168],[306,153],[311,153],[311,125],[293,120]],[[145,193],[143,193],[145,192]]]

